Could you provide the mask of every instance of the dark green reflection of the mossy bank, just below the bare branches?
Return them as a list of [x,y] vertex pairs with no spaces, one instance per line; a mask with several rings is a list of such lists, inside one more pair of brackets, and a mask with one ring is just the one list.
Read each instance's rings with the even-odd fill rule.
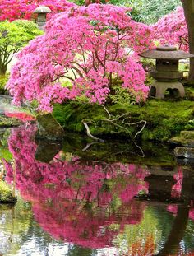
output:
[[94,142],[86,151],[83,151],[87,142],[90,142],[90,138],[76,133],[66,133],[62,148],[64,159],[71,161],[73,154],[86,160],[120,161],[122,163],[137,163],[141,165],[176,165],[173,155],[169,154],[167,145],[161,143],[158,146],[153,142],[141,142],[139,146],[141,146],[146,157],[140,157],[142,155],[140,148],[136,147],[132,142],[123,143],[123,140],[116,141],[106,138],[106,143]]

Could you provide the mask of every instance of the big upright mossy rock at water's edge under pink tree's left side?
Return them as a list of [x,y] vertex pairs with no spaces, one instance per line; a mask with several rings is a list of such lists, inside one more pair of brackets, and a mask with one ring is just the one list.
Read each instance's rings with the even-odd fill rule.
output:
[[36,137],[48,140],[62,140],[64,130],[52,114],[39,114],[37,116],[38,132]]

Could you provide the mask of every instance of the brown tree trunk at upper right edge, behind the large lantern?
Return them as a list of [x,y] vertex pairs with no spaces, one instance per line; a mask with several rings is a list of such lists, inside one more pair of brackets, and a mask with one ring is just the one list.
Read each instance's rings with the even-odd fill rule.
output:
[[[194,54],[194,0],[181,0],[188,28],[189,51]],[[189,80],[194,81],[194,58],[190,60]]]

